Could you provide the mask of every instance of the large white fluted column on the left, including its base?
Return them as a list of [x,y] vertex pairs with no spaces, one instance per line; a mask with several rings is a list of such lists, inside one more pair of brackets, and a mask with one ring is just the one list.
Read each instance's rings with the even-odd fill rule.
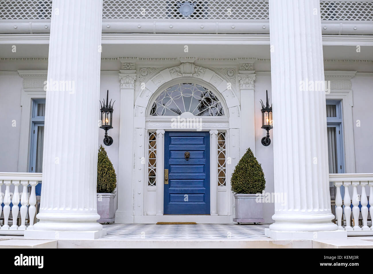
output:
[[49,40],[41,207],[25,237],[93,239],[102,0],[53,0]]

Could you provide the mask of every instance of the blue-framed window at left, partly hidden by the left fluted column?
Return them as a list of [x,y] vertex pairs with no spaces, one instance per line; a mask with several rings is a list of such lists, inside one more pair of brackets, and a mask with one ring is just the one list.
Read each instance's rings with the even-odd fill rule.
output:
[[[43,172],[44,119],[45,99],[32,100],[31,143],[29,172]],[[41,194],[41,183],[36,188],[36,195]]]

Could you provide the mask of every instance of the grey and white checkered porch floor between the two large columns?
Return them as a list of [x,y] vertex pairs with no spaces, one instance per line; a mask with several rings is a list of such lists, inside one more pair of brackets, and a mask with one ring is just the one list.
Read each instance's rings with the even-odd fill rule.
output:
[[107,224],[104,238],[247,239],[263,238],[269,224]]

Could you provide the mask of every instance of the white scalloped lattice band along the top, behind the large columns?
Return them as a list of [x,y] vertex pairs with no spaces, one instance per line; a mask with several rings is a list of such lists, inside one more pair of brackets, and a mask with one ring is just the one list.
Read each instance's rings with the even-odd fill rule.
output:
[[[0,0],[0,19],[50,19],[51,0]],[[373,1],[321,1],[322,20],[373,21]],[[104,0],[103,19],[269,19],[267,0]]]

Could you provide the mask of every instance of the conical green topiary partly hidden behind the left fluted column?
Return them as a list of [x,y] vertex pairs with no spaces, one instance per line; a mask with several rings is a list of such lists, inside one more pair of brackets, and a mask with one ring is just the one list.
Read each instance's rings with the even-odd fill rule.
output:
[[97,160],[97,193],[114,193],[115,188],[115,170],[104,147],[101,145],[98,149]]

